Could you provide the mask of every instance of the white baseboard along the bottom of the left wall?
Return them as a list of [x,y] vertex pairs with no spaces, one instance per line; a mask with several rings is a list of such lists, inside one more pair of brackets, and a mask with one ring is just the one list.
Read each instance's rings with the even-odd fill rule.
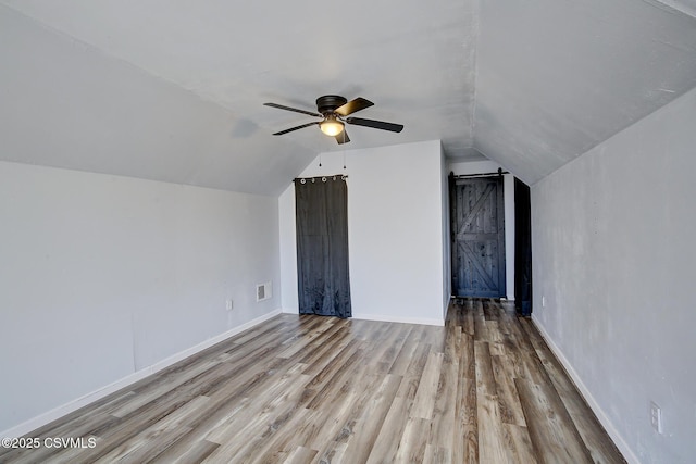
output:
[[175,353],[169,358],[165,358],[164,360],[154,363],[150,366],[144,367],[140,371],[136,371],[133,374],[129,374],[116,381],[114,381],[113,384],[109,384],[98,390],[95,390],[90,393],[87,393],[80,398],[77,398],[75,400],[72,400],[65,404],[62,404],[58,407],[54,407],[46,413],[39,414],[36,417],[33,417],[20,425],[16,425],[12,428],[9,428],[2,432],[0,432],[0,437],[22,437],[26,434],[28,434],[32,430],[36,430],[39,427],[42,427],[47,424],[50,424],[51,422],[63,417],[66,414],[70,414],[74,411],[77,411],[80,407],[84,407],[90,403],[94,403],[95,401],[98,401],[111,393],[114,393],[119,390],[121,390],[122,388],[125,388],[129,385],[135,384],[138,380],[141,380],[144,378],[146,378],[147,376],[150,376],[152,374],[156,374],[169,366],[171,366],[172,364],[175,364],[190,355],[194,355],[200,351],[203,351],[210,347],[212,347],[215,343],[220,343],[223,340],[226,340],[229,337],[233,337],[237,334],[240,334],[253,326],[257,326],[265,321],[269,321],[275,316],[277,316],[278,314],[281,314],[282,311],[279,309],[274,310],[270,313],[263,314],[262,316],[259,316],[254,319],[251,319],[247,323],[241,324],[240,326],[234,327],[227,331],[224,331],[220,335],[216,335],[212,338],[209,338],[208,340],[204,340],[191,348],[188,348],[186,350],[179,351],[178,353]]

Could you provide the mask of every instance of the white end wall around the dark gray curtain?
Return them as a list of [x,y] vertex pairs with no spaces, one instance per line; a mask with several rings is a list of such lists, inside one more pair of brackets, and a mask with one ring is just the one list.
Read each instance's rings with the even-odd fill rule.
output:
[[[344,166],[344,155],[346,170]],[[444,324],[439,140],[323,153],[300,177],[348,175],[348,247],[357,318]],[[297,312],[295,189],[278,200],[283,309]]]

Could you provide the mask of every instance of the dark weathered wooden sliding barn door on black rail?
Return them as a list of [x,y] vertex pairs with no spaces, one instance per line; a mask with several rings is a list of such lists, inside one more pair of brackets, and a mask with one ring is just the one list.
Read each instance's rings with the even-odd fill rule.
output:
[[502,177],[450,180],[452,292],[506,296]]

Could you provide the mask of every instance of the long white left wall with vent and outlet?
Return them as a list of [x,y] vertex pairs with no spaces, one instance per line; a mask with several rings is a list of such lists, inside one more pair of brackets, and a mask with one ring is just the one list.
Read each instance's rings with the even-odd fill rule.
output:
[[256,284],[279,284],[277,211],[0,162],[0,430],[279,309],[256,302]]

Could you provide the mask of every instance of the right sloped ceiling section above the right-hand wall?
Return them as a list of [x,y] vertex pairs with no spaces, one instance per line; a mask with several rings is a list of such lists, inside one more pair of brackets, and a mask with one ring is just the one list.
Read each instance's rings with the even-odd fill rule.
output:
[[477,53],[474,147],[527,183],[696,86],[696,21],[642,0],[483,1]]

